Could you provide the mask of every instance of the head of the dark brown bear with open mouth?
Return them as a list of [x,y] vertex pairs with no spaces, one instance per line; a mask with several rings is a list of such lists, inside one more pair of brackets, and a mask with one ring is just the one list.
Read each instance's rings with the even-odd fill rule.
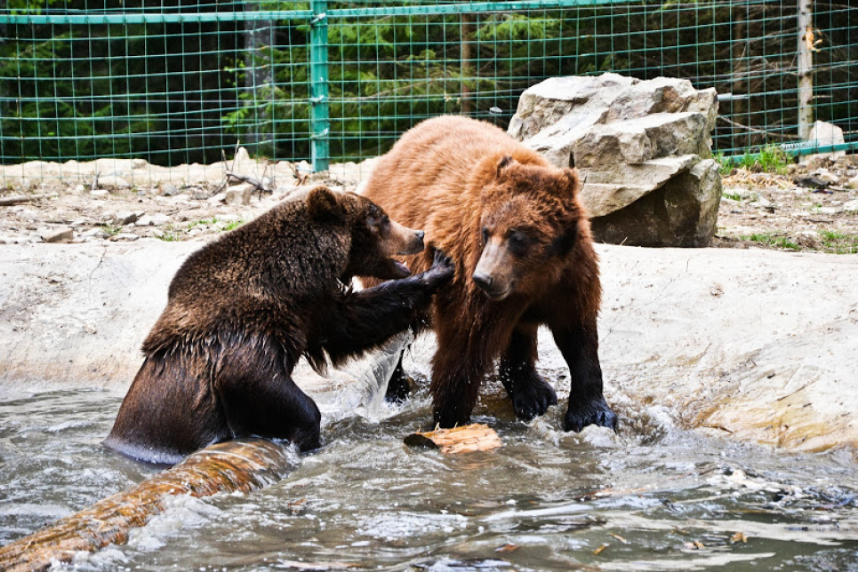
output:
[[423,250],[423,231],[390,220],[380,206],[354,193],[316,187],[306,202],[310,218],[342,226],[349,233],[349,259],[341,275],[343,282],[348,283],[352,276],[392,280],[411,274],[408,266],[392,257]]

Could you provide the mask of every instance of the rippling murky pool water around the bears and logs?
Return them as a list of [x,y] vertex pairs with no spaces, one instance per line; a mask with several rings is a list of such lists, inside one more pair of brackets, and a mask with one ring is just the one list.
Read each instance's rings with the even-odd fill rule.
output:
[[[494,394],[493,394],[494,392]],[[325,445],[277,485],[180,497],[129,545],[76,560],[114,570],[858,570],[858,470],[679,430],[622,411],[619,438],[518,423],[490,390],[477,417],[504,446],[444,457],[402,439],[425,395],[371,416],[325,413]],[[156,469],[100,447],[121,393],[0,393],[0,544]],[[343,411],[346,412],[343,412]],[[369,418],[367,418],[369,417]],[[68,567],[70,568],[70,567]]]

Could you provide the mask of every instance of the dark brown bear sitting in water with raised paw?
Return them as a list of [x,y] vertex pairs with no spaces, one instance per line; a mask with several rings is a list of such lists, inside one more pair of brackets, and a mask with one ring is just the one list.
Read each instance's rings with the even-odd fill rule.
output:
[[[325,187],[197,250],[172,279],[105,445],[158,464],[249,435],[317,448],[319,409],[292,379],[296,362],[340,364],[425,313],[453,265],[436,251],[410,276],[391,258],[421,250],[422,231]],[[357,275],[397,280],[344,286]]]

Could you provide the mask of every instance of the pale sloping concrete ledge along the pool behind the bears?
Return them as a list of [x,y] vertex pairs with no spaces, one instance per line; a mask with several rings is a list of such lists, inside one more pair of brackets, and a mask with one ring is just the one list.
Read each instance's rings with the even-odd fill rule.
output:
[[[199,246],[0,246],[0,395],[129,385],[172,274]],[[598,252],[608,401],[661,403],[683,425],[790,450],[858,449],[858,257]],[[549,339],[541,365],[563,369]]]

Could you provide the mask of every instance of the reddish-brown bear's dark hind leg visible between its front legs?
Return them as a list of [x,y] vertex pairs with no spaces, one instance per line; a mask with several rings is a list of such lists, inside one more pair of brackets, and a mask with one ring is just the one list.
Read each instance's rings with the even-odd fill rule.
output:
[[516,417],[530,421],[557,405],[557,392],[536,373],[535,324],[518,324],[501,355],[501,383],[512,400]]

